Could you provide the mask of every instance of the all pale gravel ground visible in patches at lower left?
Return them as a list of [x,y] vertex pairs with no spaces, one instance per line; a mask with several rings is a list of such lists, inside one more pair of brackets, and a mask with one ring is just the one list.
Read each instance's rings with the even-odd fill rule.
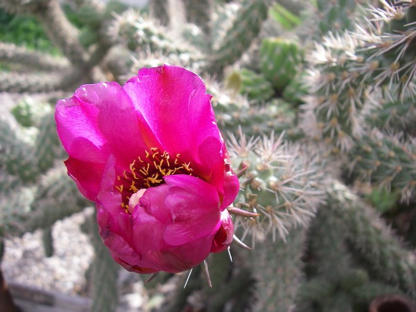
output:
[[[93,209],[85,209],[53,226],[54,254],[45,257],[42,232],[26,233],[23,237],[6,240],[6,252],[1,263],[8,283],[88,297],[85,272],[94,257],[89,237],[80,230],[85,218]],[[155,311],[173,293],[179,276],[166,284],[157,284],[151,290],[144,287],[143,279],[132,272],[120,269],[117,312]]]

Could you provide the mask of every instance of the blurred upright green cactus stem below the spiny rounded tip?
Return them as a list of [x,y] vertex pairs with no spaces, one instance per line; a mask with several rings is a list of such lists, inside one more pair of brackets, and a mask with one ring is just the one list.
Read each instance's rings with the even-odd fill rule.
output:
[[250,252],[257,277],[257,301],[252,311],[287,312],[294,306],[302,281],[304,229],[293,229],[287,241],[263,241]]

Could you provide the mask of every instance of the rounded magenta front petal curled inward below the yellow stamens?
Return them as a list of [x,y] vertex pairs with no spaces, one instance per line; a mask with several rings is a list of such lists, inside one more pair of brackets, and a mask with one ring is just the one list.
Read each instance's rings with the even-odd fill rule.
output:
[[170,175],[166,184],[150,188],[140,200],[148,214],[166,224],[164,241],[183,245],[216,233],[219,198],[211,184],[189,175]]

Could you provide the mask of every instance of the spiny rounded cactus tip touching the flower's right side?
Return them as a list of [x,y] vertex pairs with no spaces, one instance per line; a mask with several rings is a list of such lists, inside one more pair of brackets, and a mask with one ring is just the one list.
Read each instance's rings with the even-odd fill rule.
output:
[[[237,218],[243,238],[256,239],[271,232],[272,239],[285,239],[288,229],[305,226],[322,202],[322,171],[300,146],[286,146],[281,137],[258,140],[231,138],[234,168],[247,168],[240,179],[243,190],[234,205],[261,214],[258,220]],[[289,160],[290,159],[290,160]]]

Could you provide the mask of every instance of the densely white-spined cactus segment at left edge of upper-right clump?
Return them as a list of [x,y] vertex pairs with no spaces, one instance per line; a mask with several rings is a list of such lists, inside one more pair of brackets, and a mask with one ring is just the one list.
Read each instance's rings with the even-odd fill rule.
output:
[[348,34],[329,35],[309,55],[305,76],[308,96],[300,126],[313,139],[327,142],[334,153],[350,150],[363,133],[361,110],[366,85],[349,71],[355,64],[355,42]]

